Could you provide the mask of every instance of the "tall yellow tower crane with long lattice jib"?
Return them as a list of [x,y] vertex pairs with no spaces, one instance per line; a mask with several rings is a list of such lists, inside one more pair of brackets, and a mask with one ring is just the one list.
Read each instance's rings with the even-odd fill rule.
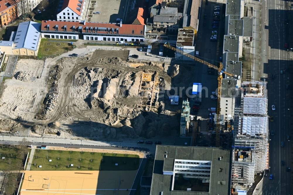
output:
[[217,127],[216,127],[216,147],[219,147],[220,146],[220,130],[221,130],[221,124],[220,124],[220,113],[221,113],[221,105],[220,105],[220,102],[221,102],[221,89],[222,89],[222,79],[223,79],[223,73],[226,74],[226,75],[229,75],[235,79],[240,79],[240,76],[237,76],[237,75],[234,75],[234,74],[231,74],[229,72],[226,72],[224,69],[223,69],[223,64],[222,62],[220,62],[220,66],[217,67],[213,64],[210,64],[206,61],[203,61],[197,57],[194,57],[186,52],[183,52],[182,50],[180,49],[177,49],[175,47],[172,47],[170,44],[167,44],[167,42],[164,44],[165,47],[169,48],[169,49],[172,49],[182,55],[185,55],[191,59],[194,59],[195,61],[198,61],[202,64],[205,64],[206,66],[208,66],[209,68],[212,68],[212,69],[215,69],[218,71],[218,107],[217,107]]

